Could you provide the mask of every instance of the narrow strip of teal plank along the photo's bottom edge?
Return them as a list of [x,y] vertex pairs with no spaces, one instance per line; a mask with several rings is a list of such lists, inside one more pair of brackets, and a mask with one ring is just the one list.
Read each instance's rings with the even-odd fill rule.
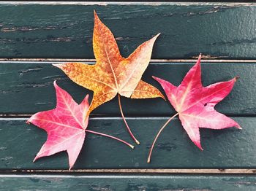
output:
[[0,176],[0,190],[246,190],[255,176]]

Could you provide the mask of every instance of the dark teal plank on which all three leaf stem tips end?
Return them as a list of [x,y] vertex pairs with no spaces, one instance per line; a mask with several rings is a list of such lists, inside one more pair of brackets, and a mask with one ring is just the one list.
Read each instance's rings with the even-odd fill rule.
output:
[[[73,169],[85,168],[256,168],[256,118],[234,117],[243,130],[200,129],[204,151],[192,144],[178,119],[159,137],[151,163],[148,150],[166,118],[128,118],[130,128],[140,140],[132,150],[102,136],[87,134]],[[91,118],[89,130],[108,133],[133,144],[121,118]],[[0,170],[68,169],[67,153],[33,159],[46,140],[44,130],[26,125],[21,119],[0,120]]]

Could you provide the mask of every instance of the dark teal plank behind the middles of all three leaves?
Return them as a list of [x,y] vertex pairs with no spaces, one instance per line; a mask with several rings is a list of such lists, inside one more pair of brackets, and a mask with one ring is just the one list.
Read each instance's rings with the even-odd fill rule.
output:
[[[194,63],[151,63],[143,79],[162,90],[152,75],[179,85]],[[67,90],[75,101],[82,101],[86,93],[92,92],[75,85],[65,74],[51,63],[0,63],[0,113],[34,114],[53,109],[56,95],[53,81]],[[256,114],[256,63],[202,63],[203,85],[225,81],[239,76],[233,91],[216,108],[219,112],[233,116]],[[162,91],[163,92],[163,91]],[[92,96],[91,96],[92,98]],[[136,100],[121,98],[124,113],[130,117],[168,117],[174,113],[172,106],[161,98]],[[98,109],[94,114],[120,116],[117,98]]]

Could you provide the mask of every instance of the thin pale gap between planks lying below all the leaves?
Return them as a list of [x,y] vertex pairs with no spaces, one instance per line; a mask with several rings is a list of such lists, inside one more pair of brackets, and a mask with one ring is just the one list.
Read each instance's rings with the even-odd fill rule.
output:
[[75,170],[10,170],[0,173],[102,173],[102,174],[256,174],[256,169],[75,169]]

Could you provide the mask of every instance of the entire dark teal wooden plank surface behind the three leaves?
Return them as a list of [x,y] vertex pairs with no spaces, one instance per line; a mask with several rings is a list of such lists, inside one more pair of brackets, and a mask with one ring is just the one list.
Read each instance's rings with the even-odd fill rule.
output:
[[[141,143],[134,150],[87,133],[72,171],[67,170],[66,152],[33,163],[47,135],[25,122],[31,114],[55,107],[53,81],[75,101],[92,95],[48,58],[85,58],[94,64],[94,9],[113,31],[123,56],[162,33],[152,55],[157,60],[143,75],[159,90],[152,75],[179,85],[200,52],[211,58],[202,63],[203,85],[239,76],[216,109],[243,130],[200,129],[201,152],[176,118],[147,164],[151,142],[174,110],[160,98],[121,98]],[[255,15],[255,3],[0,2],[0,190],[256,190]],[[93,112],[89,130],[133,144],[116,99]]]

